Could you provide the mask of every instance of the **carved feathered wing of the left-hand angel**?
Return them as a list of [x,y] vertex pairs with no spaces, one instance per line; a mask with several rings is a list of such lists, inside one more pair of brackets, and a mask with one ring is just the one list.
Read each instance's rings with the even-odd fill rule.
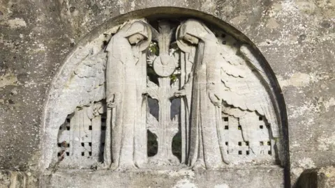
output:
[[68,114],[76,107],[88,106],[105,98],[106,61],[107,54],[102,50],[98,54],[87,56],[77,65],[59,96],[61,104],[68,105]]

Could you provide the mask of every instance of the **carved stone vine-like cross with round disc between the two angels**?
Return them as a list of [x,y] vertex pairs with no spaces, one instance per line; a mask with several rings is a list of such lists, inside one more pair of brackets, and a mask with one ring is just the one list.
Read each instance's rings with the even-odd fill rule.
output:
[[151,98],[158,101],[159,114],[158,121],[149,118],[148,129],[158,137],[158,152],[152,157],[151,162],[156,164],[178,164],[179,159],[172,154],[172,139],[178,132],[178,121],[176,118],[171,120],[170,109],[171,100],[174,93],[178,90],[177,83],[171,84],[170,75],[177,67],[177,60],[169,55],[172,29],[168,22],[158,24],[158,47],[159,55],[154,57],[153,67],[158,75],[158,86],[148,80],[148,94]]

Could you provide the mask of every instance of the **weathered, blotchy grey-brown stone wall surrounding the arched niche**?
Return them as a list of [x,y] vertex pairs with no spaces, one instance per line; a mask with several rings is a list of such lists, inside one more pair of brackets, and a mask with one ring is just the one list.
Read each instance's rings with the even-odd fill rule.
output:
[[38,171],[47,93],[75,45],[113,17],[156,6],[214,15],[260,49],[285,97],[292,184],[304,169],[335,164],[334,0],[2,0],[0,169]]

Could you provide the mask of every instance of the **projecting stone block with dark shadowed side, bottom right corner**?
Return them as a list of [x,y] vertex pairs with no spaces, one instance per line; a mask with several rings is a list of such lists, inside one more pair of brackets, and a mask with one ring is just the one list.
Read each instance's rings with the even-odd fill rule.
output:
[[308,169],[301,173],[296,188],[332,188],[335,187],[335,168],[326,166]]

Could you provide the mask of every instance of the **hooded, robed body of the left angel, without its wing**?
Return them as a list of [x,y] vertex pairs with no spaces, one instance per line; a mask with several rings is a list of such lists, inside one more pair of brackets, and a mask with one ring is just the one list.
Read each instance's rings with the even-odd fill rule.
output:
[[[107,127],[104,164],[107,168],[131,169],[137,166],[137,153],[141,148],[135,143],[137,107],[142,98],[137,62],[151,41],[149,26],[136,21],[123,26],[107,45],[106,101]],[[110,125],[112,124],[112,125]],[[144,132],[145,133],[145,132]],[[147,151],[145,151],[147,152]],[[112,165],[112,166],[111,166]]]

